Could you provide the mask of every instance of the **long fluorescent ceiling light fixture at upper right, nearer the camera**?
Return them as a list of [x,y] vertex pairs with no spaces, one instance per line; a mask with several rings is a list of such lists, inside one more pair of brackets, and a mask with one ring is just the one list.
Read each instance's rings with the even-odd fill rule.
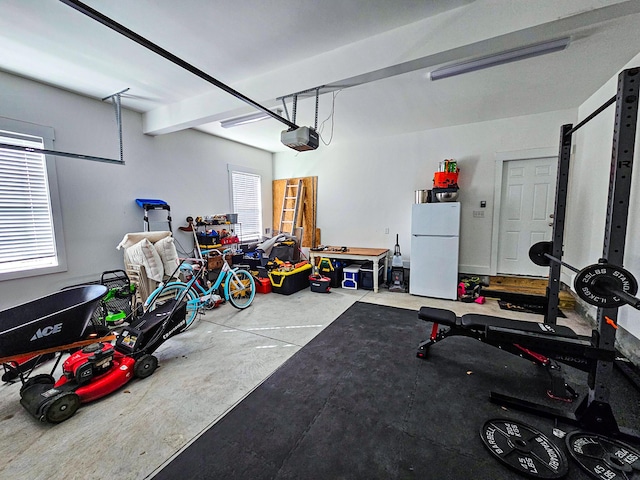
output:
[[476,58],[467,62],[456,63],[447,67],[437,68],[431,72],[431,80],[440,80],[441,78],[453,77],[462,73],[475,72],[483,68],[495,67],[504,63],[515,62],[525,58],[537,57],[551,52],[564,50],[569,45],[571,38],[564,37],[551,42],[536,43],[528,47],[516,48],[505,52],[489,55],[486,57]]

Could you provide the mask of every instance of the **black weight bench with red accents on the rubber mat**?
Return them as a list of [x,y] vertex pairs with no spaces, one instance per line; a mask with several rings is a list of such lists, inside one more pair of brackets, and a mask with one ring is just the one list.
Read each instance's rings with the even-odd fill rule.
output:
[[547,391],[551,398],[565,401],[576,398],[575,390],[565,383],[556,359],[585,369],[589,363],[585,352],[590,343],[569,327],[475,313],[458,317],[451,310],[433,307],[420,308],[418,318],[433,322],[429,339],[418,346],[418,358],[427,358],[429,348],[445,338],[475,338],[545,367],[551,376],[551,388]]

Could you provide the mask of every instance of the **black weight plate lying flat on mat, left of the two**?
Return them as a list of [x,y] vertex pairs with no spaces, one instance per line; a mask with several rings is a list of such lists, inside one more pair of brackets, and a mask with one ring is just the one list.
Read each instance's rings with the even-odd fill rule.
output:
[[562,478],[569,462],[549,438],[535,428],[515,420],[487,420],[480,438],[502,463],[531,478]]

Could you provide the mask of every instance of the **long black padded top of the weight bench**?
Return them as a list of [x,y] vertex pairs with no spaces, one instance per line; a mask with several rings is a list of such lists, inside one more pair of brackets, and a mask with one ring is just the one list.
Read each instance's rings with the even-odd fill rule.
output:
[[578,335],[573,330],[562,325],[513,320],[477,313],[467,313],[461,317],[456,317],[454,312],[443,308],[421,307],[418,312],[418,318],[427,322],[434,322],[449,327],[457,326],[469,330],[486,330],[487,327],[498,327],[554,337],[578,338]]

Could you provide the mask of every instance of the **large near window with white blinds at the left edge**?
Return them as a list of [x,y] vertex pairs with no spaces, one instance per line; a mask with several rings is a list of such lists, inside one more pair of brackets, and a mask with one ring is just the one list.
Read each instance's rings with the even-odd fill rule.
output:
[[[0,143],[43,149],[0,130]],[[58,265],[45,156],[0,147],[0,274]]]

